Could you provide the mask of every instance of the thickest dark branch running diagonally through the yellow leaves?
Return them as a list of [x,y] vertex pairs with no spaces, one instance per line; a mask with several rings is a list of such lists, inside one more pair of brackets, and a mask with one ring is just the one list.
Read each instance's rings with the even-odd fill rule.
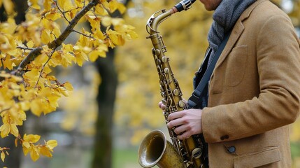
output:
[[[79,13],[77,13],[76,16],[70,21],[69,25],[66,27],[66,29],[64,29],[62,34],[58,38],[56,38],[54,41],[49,43],[48,47],[52,50],[55,50],[57,47],[59,47],[59,45],[62,45],[62,43],[64,42],[66,37],[68,37],[69,34],[71,34],[71,32],[73,31],[73,28],[77,25],[80,18],[83,18],[85,13],[87,13],[91,8],[96,6],[97,3],[100,3],[100,1],[92,0],[90,3],[87,4],[87,6],[85,6],[82,10],[80,10]],[[27,57],[25,59],[23,59],[22,62],[20,63],[20,65],[17,67],[17,70],[14,71],[13,73],[20,76],[20,73],[25,68],[25,66],[27,66],[27,64],[29,64],[36,57],[38,57],[38,55],[41,54],[42,50],[43,50],[42,47],[37,47],[37,48],[34,48],[34,50],[31,50],[31,52],[29,52]]]

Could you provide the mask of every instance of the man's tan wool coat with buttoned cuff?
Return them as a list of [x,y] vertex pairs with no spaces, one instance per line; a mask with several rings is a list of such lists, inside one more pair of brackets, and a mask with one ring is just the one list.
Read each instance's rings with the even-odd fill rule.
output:
[[291,167],[300,45],[290,18],[258,0],[236,22],[210,78],[203,136],[210,168]]

